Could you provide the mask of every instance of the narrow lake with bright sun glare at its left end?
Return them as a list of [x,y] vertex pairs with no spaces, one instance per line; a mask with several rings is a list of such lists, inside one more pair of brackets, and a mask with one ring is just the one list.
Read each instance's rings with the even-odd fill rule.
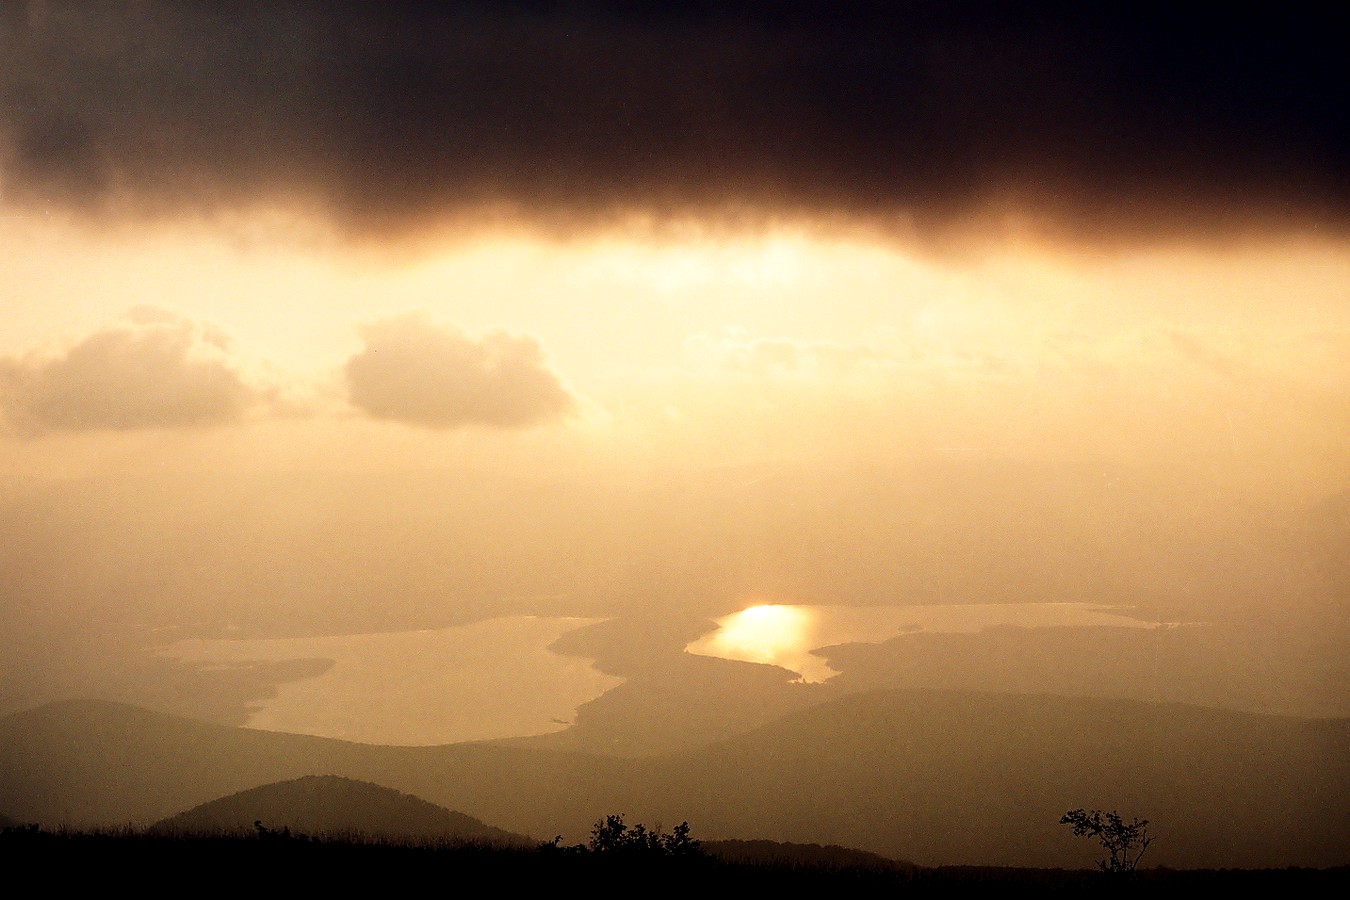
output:
[[724,615],[717,630],[684,649],[796,672],[803,681],[838,675],[814,650],[836,644],[880,644],[911,631],[973,633],[987,627],[1153,627],[1091,603],[967,603],[950,606],[790,606],[765,603]]

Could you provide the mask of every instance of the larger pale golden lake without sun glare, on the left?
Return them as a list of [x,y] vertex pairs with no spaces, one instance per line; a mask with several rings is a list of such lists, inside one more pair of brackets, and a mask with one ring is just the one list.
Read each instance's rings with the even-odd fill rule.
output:
[[285,683],[248,727],[366,743],[436,745],[559,731],[620,684],[548,650],[599,619],[512,617],[460,627],[263,641],[186,640],[163,656],[201,664],[333,660]]

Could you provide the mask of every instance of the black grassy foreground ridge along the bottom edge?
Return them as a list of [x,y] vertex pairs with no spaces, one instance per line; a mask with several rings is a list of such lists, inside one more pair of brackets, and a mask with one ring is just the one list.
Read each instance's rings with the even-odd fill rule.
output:
[[[907,896],[953,896],[953,892],[1034,888],[1042,895],[1080,895],[1084,889],[1126,888],[1162,896],[1196,891],[1343,891],[1350,866],[1330,869],[1141,869],[1129,880],[1092,869],[998,866],[880,865],[803,855],[792,845],[749,861],[737,855],[742,842],[710,842],[695,854],[620,854],[560,850],[481,841],[354,839],[308,835],[262,826],[255,835],[157,834],[138,828],[93,831],[45,830],[38,824],[0,828],[0,851],[32,872],[61,872],[69,887],[105,889],[117,881],[143,889],[147,873],[167,891],[181,892],[211,872],[215,889],[414,888],[428,877],[491,877],[497,885],[558,888],[632,885],[633,877],[659,877],[683,889],[772,889],[805,896],[822,889],[899,889]],[[765,843],[765,842],[757,842]],[[730,851],[721,850],[728,845]],[[814,847],[819,850],[821,847]],[[836,847],[836,850],[841,850]],[[208,868],[202,868],[208,866]]]

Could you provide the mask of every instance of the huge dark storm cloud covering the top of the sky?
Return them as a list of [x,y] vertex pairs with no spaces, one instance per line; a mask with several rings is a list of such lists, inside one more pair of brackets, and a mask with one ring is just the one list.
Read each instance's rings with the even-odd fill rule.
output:
[[1343,31],[1285,3],[12,4],[8,197],[354,232],[802,213],[1346,221]]

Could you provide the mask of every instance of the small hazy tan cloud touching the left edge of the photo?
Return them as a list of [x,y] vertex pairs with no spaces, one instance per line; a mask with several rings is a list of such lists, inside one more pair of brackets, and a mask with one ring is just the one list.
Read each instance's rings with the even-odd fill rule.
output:
[[181,428],[238,420],[258,399],[224,335],[140,308],[59,355],[0,359],[0,413],[22,434]]

